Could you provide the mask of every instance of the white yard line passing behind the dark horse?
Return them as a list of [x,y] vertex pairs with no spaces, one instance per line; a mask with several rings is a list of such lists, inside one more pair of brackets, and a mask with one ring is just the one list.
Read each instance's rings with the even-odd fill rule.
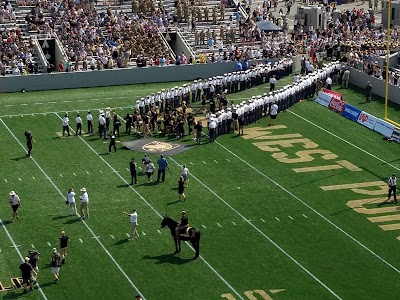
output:
[[[55,114],[55,115],[56,115],[60,120],[62,120],[62,118],[61,118],[58,114]],[[1,120],[1,119],[0,119],[0,120]],[[69,127],[70,127],[70,129],[71,129],[72,132],[75,132],[75,130],[74,130],[71,126],[69,126]],[[93,153],[96,154],[96,156],[97,156],[98,158],[100,158],[101,161],[103,161],[104,164],[106,164],[106,165],[113,171],[113,173],[114,173],[115,175],[117,175],[125,184],[127,184],[128,187],[129,187],[141,200],[143,200],[143,202],[146,203],[146,205],[147,205],[152,211],[154,211],[154,212],[156,213],[157,216],[159,216],[161,219],[163,219],[163,216],[154,208],[154,206],[151,205],[151,204],[150,204],[150,203],[135,189],[135,188],[133,188],[133,186],[129,185],[129,182],[128,182],[119,172],[117,172],[117,170],[116,170],[113,166],[111,166],[103,157],[101,157],[101,156],[99,155],[99,153],[97,153],[96,150],[94,150],[93,147],[90,146],[90,145],[88,144],[88,142],[86,142],[80,135],[78,135],[78,137],[79,137],[79,139],[80,139]],[[195,251],[194,248],[192,247],[192,245],[190,245],[188,242],[186,242],[186,245],[188,245],[190,249],[192,249],[193,251]],[[239,299],[244,300],[244,298],[233,288],[233,286],[232,286],[228,281],[226,281],[226,279],[223,278],[222,275],[219,274],[218,271],[217,271],[213,266],[211,266],[210,263],[209,263],[208,261],[206,261],[201,255],[200,255],[199,257],[200,257],[200,259],[211,269],[211,271],[213,271],[213,273],[214,273],[215,275],[217,275],[217,276],[219,277],[219,279],[221,279],[221,281],[222,281],[227,287],[229,287],[229,288],[231,289],[232,292],[234,292],[234,293],[236,294],[236,296],[239,297]]]

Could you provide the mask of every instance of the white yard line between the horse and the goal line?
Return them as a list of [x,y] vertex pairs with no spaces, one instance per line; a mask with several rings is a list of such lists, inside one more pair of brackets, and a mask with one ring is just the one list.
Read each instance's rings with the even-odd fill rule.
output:
[[[176,160],[174,160],[171,156],[169,157],[178,167],[182,164],[179,164]],[[217,193],[215,193],[211,188],[209,188],[205,183],[203,183],[200,179],[198,179],[193,173],[190,173],[190,176],[196,179],[198,183],[200,183],[203,187],[209,190],[215,197],[217,197],[221,202],[223,202],[226,206],[228,206],[233,212],[235,212],[239,217],[243,219],[247,224],[253,227],[259,234],[261,234],[264,238],[266,238],[272,245],[274,245],[280,252],[282,252],[286,257],[288,257],[292,262],[294,262],[298,267],[300,267],[304,272],[310,275],[315,281],[317,281],[320,285],[322,285],[327,291],[329,291],[333,296],[337,299],[342,299],[339,295],[337,295],[331,288],[329,288],[325,283],[323,283],[317,276],[311,273],[306,267],[304,267],[299,261],[297,261],[293,256],[291,256],[288,252],[286,252],[281,246],[279,246],[275,241],[273,241],[268,235],[266,235],[261,229],[255,226],[248,218],[242,215],[238,210],[236,210],[232,205],[230,205],[227,201],[221,198]]]

